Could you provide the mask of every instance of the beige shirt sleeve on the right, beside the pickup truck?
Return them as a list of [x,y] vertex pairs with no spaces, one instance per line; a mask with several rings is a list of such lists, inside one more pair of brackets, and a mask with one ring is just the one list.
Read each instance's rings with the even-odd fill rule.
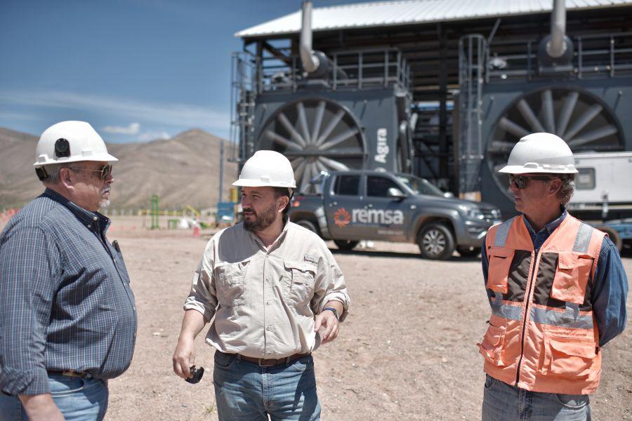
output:
[[330,301],[341,302],[344,310],[340,316],[340,321],[344,321],[349,312],[351,299],[347,293],[345,277],[334,259],[334,255],[329,249],[325,249],[318,262],[312,308],[317,309],[320,313]]

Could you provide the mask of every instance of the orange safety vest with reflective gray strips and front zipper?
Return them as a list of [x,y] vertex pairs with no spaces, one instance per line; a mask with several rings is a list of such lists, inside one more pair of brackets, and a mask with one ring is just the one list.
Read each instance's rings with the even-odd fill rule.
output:
[[523,216],[489,229],[485,372],[534,392],[589,394],[601,374],[591,289],[604,233],[567,215],[539,250]]

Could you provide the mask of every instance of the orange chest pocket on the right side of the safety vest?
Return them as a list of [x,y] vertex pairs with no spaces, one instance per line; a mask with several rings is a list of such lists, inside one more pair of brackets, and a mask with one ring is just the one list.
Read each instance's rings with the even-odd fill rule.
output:
[[572,251],[558,254],[558,267],[551,286],[551,298],[584,304],[588,276],[593,267],[593,258]]

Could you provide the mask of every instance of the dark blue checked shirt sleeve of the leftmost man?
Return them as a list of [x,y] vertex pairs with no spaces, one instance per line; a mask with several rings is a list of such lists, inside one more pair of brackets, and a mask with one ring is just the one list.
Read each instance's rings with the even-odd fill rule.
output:
[[60,251],[37,227],[15,229],[0,244],[0,389],[49,393],[46,328],[61,272]]

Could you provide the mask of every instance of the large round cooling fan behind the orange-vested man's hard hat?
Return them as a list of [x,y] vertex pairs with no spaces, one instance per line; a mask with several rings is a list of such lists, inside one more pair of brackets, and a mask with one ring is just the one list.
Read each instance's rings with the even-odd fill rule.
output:
[[487,142],[487,163],[494,181],[511,199],[506,174],[498,173],[520,138],[529,133],[555,133],[573,152],[623,150],[618,121],[599,98],[577,88],[541,88],[510,105]]

